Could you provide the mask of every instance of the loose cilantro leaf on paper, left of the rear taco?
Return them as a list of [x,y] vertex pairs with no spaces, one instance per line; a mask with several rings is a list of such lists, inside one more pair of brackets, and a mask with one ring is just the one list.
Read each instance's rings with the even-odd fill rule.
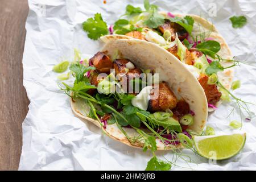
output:
[[100,13],[94,14],[93,18],[88,18],[84,23],[82,23],[84,31],[90,39],[97,40],[102,35],[109,34],[108,26],[106,22],[101,17]]

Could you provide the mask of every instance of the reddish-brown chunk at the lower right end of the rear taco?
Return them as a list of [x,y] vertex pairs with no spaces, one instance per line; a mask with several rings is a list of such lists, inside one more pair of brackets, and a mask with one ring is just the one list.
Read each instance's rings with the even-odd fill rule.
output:
[[221,98],[221,92],[218,92],[217,85],[208,85],[208,76],[201,74],[198,78],[198,81],[200,82],[201,86],[204,89],[205,96],[207,97],[208,104],[216,105],[218,101],[220,101]]

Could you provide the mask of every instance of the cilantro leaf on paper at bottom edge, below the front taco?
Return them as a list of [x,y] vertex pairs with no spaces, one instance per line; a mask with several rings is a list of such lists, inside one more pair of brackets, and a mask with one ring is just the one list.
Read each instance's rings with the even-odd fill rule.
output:
[[159,161],[156,156],[153,156],[147,163],[146,171],[168,171],[171,169],[171,164]]

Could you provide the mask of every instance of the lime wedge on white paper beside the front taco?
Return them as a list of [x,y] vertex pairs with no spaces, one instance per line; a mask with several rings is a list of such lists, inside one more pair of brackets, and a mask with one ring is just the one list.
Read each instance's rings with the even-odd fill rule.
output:
[[240,152],[245,144],[246,133],[193,137],[196,150],[207,159],[224,160]]

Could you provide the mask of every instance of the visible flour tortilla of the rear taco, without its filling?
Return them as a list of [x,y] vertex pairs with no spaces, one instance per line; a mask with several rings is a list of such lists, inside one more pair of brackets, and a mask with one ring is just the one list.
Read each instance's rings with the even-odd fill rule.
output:
[[[160,12],[160,14],[168,18],[168,15],[166,12]],[[175,16],[184,17],[186,15],[175,14]],[[218,32],[217,28],[212,23],[208,22],[208,20],[201,18],[200,16],[191,15],[191,14],[189,14],[189,16],[191,16],[195,20],[192,35],[198,35],[199,32],[207,32],[207,35],[209,38],[213,38],[214,40],[216,40],[218,43],[221,44],[221,49],[218,52],[218,55],[220,55],[223,59],[231,60],[233,58],[232,52],[230,51],[230,48],[226,43],[225,39]],[[101,40],[105,43],[115,39],[134,39],[134,38],[131,38],[130,36],[126,36],[126,35],[106,35],[101,37]],[[229,67],[230,65],[233,65],[233,62],[222,61],[221,65],[223,67]],[[231,88],[233,77],[234,77],[234,68],[225,69],[223,72],[218,72],[217,75],[218,75],[218,80],[221,82],[221,84],[225,86],[226,89],[229,90]],[[221,101],[219,101],[216,104],[216,106],[219,106],[220,104],[221,104]],[[214,111],[214,109],[209,108],[208,111]]]

